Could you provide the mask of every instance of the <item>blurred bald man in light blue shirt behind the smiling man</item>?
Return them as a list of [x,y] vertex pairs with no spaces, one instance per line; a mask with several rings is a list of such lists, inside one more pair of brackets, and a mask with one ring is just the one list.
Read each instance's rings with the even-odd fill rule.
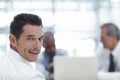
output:
[[55,56],[65,56],[67,52],[63,49],[56,49],[54,34],[50,31],[44,33],[43,47],[45,50],[36,62],[36,67],[47,80],[54,80],[53,59]]

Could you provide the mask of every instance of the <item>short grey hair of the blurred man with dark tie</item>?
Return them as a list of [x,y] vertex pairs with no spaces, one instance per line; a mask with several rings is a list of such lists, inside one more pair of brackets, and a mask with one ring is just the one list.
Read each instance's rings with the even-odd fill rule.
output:
[[117,40],[120,40],[120,30],[117,25],[114,23],[105,23],[102,25],[101,28],[107,28],[107,34],[108,36],[116,35]]

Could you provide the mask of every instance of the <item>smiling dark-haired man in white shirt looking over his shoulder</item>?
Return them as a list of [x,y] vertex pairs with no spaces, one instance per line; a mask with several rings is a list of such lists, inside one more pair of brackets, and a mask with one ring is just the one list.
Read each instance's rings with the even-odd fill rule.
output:
[[10,49],[1,59],[0,80],[45,80],[30,64],[37,60],[42,40],[41,18],[27,13],[16,15],[10,25]]

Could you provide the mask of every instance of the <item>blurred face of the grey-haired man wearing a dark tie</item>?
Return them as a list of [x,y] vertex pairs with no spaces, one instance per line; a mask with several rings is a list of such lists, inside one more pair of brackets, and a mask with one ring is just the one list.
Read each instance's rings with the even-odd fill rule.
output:
[[108,36],[107,28],[105,27],[101,30],[101,42],[103,43],[104,48],[112,49],[113,36]]

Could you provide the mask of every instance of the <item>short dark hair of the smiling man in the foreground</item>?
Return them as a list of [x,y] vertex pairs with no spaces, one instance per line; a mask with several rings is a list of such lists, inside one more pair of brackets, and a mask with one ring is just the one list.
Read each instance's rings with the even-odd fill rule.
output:
[[10,34],[13,34],[16,39],[19,39],[23,32],[23,26],[26,24],[37,25],[42,27],[42,20],[35,14],[21,13],[14,17],[10,24]]

